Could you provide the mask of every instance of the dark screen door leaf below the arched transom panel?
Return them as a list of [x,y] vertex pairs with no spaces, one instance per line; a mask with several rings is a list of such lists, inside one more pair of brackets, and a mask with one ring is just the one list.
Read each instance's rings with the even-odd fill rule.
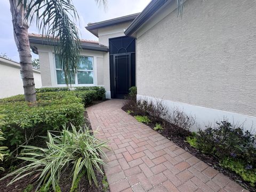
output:
[[122,99],[129,93],[131,87],[130,54],[114,55],[114,71],[115,98]]

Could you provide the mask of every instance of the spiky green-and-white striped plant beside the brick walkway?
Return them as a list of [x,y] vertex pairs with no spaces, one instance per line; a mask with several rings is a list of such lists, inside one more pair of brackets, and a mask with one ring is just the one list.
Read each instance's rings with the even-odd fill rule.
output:
[[[71,169],[71,176],[73,177],[72,186],[74,187],[78,175],[86,170],[87,178],[97,185],[97,178],[95,177],[94,169],[103,174],[100,165],[105,164],[101,157],[105,157],[103,148],[106,148],[106,142],[101,142],[95,138],[92,131],[87,127],[84,129],[80,126],[78,131],[74,125],[71,125],[72,131],[63,127],[61,132],[47,133],[47,148],[40,148],[34,146],[23,146],[22,155],[18,157],[29,163],[20,169],[7,174],[1,180],[14,176],[9,185],[13,182],[25,177],[31,173],[41,173],[38,178],[37,189],[43,185],[44,189],[52,186],[58,186],[60,177],[64,171]],[[37,190],[36,189],[36,190]]]

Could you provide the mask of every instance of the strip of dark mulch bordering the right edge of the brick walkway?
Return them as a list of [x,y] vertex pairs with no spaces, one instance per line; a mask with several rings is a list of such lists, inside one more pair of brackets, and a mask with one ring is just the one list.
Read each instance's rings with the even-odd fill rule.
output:
[[[131,110],[131,109],[129,109],[129,107],[127,105],[124,105],[122,107],[122,109],[124,111]],[[132,114],[132,113],[130,115],[134,116],[134,114]],[[159,121],[157,123],[159,123],[159,122],[164,123],[165,127],[167,126],[167,130],[175,130],[175,125],[172,125],[169,122],[166,122],[164,119],[159,119]],[[147,125],[151,129],[154,129],[154,127],[155,127],[155,123],[149,123]],[[194,147],[191,147],[189,145],[189,143],[186,142],[186,137],[184,137],[184,136],[182,137],[181,135],[177,136],[177,134],[174,135],[170,131],[169,132],[167,132],[167,131],[158,131],[158,133],[162,134],[164,137],[166,137],[170,141],[174,142],[177,146],[185,149],[191,155],[194,155],[195,157],[197,157],[201,161],[207,163],[209,166],[213,167],[215,170],[218,170],[222,174],[227,175],[227,177],[229,177],[231,180],[234,180],[235,182],[237,182],[239,185],[241,185],[245,189],[247,189],[249,191],[256,191],[256,188],[252,187],[249,182],[243,181],[241,176],[239,176],[238,174],[236,174],[233,171],[230,171],[228,169],[225,169],[224,167],[221,167],[219,165],[219,160],[217,158],[215,158],[211,155],[203,154],[201,151],[195,149]]]

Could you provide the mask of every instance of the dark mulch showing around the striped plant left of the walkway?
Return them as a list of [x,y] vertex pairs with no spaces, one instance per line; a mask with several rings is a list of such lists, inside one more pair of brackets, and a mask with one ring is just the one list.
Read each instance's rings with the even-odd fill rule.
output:
[[[102,101],[95,101],[93,102],[93,105],[100,103]],[[85,111],[84,113],[84,118],[85,118],[85,125],[89,127],[89,129],[91,129],[91,123],[88,119],[88,115],[87,112]],[[44,140],[40,140],[42,142],[42,145],[40,143],[36,143],[36,146],[44,146]],[[33,145],[33,144],[31,144]],[[15,162],[15,164],[13,164],[13,166],[16,165],[17,169],[19,167],[24,166],[20,165],[20,162]],[[7,174],[7,170],[6,172],[2,172],[0,171],[0,178],[4,177]],[[86,173],[85,173],[86,175]],[[84,175],[84,177],[81,178],[81,180],[79,181],[79,185],[77,187],[77,191],[82,192],[82,191],[86,191],[86,192],[109,192],[108,187],[106,188],[106,186],[104,186],[105,184],[102,183],[103,181],[103,175],[101,175],[97,170],[95,170],[95,175],[97,177],[97,181],[98,181],[98,187],[94,185],[94,183],[92,183],[92,185],[90,185],[89,181],[86,179],[86,176]],[[31,191],[35,191],[36,187],[37,187],[37,178],[38,178],[38,174],[32,174],[32,175],[27,175],[27,177],[24,177],[20,180],[18,180],[17,182],[13,183],[13,185],[10,185],[7,187],[7,184],[13,179],[13,177],[9,177],[4,179],[3,181],[0,181],[0,191],[1,192],[20,192],[23,191],[29,184],[32,184],[34,186],[33,190]],[[65,173],[63,173],[62,178],[60,179],[60,188],[61,188],[61,192],[69,192],[71,185],[72,185],[72,179],[73,177],[70,177],[70,170],[67,170]]]

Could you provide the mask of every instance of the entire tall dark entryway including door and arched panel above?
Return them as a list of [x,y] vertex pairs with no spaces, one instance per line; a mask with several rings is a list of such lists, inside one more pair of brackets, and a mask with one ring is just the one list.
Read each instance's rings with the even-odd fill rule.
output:
[[110,38],[109,63],[111,98],[123,99],[135,86],[135,39]]

